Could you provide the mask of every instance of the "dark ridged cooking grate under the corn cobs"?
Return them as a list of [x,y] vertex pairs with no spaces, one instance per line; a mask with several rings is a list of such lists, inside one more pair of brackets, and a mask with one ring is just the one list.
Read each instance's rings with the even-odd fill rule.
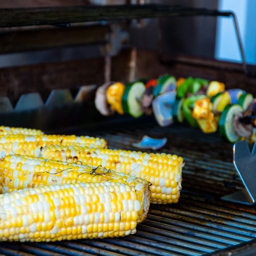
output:
[[[2,243],[6,255],[202,255],[237,248],[256,238],[256,210],[220,200],[242,189],[232,164],[232,145],[219,136],[205,135],[185,126],[137,128],[118,126],[93,132],[106,138],[109,147],[135,150],[132,142],[143,135],[167,137],[160,152],[184,157],[182,193],[178,204],[151,205],[137,233],[125,238],[62,241],[57,243]],[[106,131],[106,129],[104,129]],[[79,133],[79,131],[76,131]],[[83,134],[84,131],[80,131]],[[237,246],[237,247],[233,247]]]

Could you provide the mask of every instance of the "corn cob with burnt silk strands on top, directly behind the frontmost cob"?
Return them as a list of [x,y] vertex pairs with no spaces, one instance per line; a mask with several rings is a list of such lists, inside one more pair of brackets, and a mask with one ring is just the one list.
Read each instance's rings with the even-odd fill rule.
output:
[[[16,189],[34,188],[39,185],[103,181],[119,182],[134,187],[137,197],[142,203],[150,197],[147,181],[102,168],[100,162],[97,167],[92,168],[81,164],[19,155],[8,155],[0,160],[1,193],[9,193]],[[145,218],[143,205],[141,205],[138,214],[139,222],[143,221]]]

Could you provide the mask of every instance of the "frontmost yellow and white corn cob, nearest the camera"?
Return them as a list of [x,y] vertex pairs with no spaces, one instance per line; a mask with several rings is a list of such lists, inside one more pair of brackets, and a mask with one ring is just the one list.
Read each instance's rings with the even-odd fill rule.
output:
[[[99,190],[100,193],[98,193]],[[110,195],[117,192],[120,194],[123,192],[130,193],[130,198],[133,198],[130,199],[131,204],[141,204],[139,198],[132,195],[134,194],[132,187],[109,181],[41,186],[2,194],[0,195],[0,241],[50,242],[64,239],[119,237],[134,233],[138,219],[136,207],[134,206],[132,210],[127,209],[126,211],[117,211],[110,207],[110,205],[120,200],[118,197],[112,198]],[[96,193],[98,201],[100,198],[105,199],[102,212],[70,216],[70,205],[63,204],[60,206],[58,203],[67,197],[71,202],[76,202],[81,208],[87,208],[87,205],[92,205],[93,202],[85,203],[82,198],[90,196],[96,199],[97,197],[94,197]],[[29,199],[33,198],[34,195],[37,195],[40,200],[33,202],[33,199]],[[63,195],[65,196],[63,197]],[[50,209],[47,206],[49,198],[54,202]],[[78,200],[78,198],[81,200]],[[23,212],[18,215],[16,208],[20,205]],[[148,205],[143,207],[146,215]],[[50,218],[35,218],[38,211],[42,216],[48,216],[49,210],[58,211],[59,209],[63,210],[64,215],[54,222]],[[130,218],[125,220],[122,218],[121,221],[121,215],[130,216]],[[100,216],[105,216],[105,218],[100,218]],[[137,219],[135,220],[135,218]],[[28,222],[29,219],[32,219],[31,223]],[[7,225],[8,223],[10,225]]]

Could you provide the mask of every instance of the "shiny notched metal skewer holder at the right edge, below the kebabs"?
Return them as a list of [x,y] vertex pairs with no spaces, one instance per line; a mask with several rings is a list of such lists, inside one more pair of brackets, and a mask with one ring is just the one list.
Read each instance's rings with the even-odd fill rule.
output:
[[245,189],[237,191],[221,199],[233,203],[253,205],[256,200],[256,143],[250,152],[245,140],[239,141],[233,146],[233,164],[245,186]]

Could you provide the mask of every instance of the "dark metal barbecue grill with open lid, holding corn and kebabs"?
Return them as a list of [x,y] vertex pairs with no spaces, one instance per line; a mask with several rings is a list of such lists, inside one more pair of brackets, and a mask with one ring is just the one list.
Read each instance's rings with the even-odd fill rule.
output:
[[[160,0],[157,2],[167,3]],[[208,5],[217,8],[217,2]],[[216,19],[212,17],[211,20],[187,20],[187,24],[204,24],[207,31],[204,29],[202,33],[201,25],[197,28],[191,26],[191,31],[185,33],[187,39],[184,39],[188,42],[187,48],[195,48],[195,54],[194,51],[185,53],[184,56],[176,54],[183,43],[174,40],[178,37],[175,33],[184,29],[174,23],[175,19],[167,23],[166,17],[187,18],[194,15],[233,18],[243,65],[212,59],[214,55],[211,50],[214,52],[215,49],[216,30]],[[231,255],[243,250],[247,250],[246,255],[256,255],[256,249],[251,248],[256,248],[255,206],[220,200],[222,196],[243,188],[232,164],[230,143],[223,142],[218,134],[203,134],[199,129],[191,129],[185,125],[159,127],[153,118],[148,117],[137,120],[127,116],[104,118],[96,111],[94,102],[88,95],[81,102],[76,101],[83,84],[91,84],[91,94],[94,94],[94,84],[98,86],[109,80],[129,82],[140,78],[157,78],[164,73],[176,77],[193,76],[223,81],[228,89],[238,87],[255,95],[256,79],[252,77],[256,74],[255,67],[245,63],[236,16],[232,12],[165,5],[120,5],[10,10],[0,8],[0,16],[0,55],[23,54],[28,51],[28,62],[23,57],[24,62],[12,63],[14,66],[3,68],[0,61],[0,103],[7,102],[7,106],[4,105],[7,110],[1,112],[0,108],[1,125],[36,127],[49,130],[51,134],[103,137],[108,140],[110,148],[125,150],[138,150],[132,144],[144,135],[166,137],[166,145],[157,152],[177,154],[186,162],[178,204],[151,205],[147,219],[137,226],[135,234],[124,238],[55,243],[3,242],[0,243],[1,255]],[[140,23],[135,26],[129,22],[131,18],[145,17],[159,19],[157,23],[153,21],[142,30],[138,29]],[[99,20],[103,22],[97,23]],[[93,21],[91,25],[84,24],[89,21]],[[176,28],[172,29],[172,33],[169,33],[170,25]],[[19,26],[30,27],[19,30]],[[8,30],[8,27],[14,28]],[[189,26],[187,28],[187,31],[190,30]],[[154,31],[159,34],[157,39],[152,36]],[[191,37],[191,34],[196,36]],[[200,35],[206,35],[207,41],[192,40]],[[169,47],[171,41],[174,45]],[[201,47],[204,45],[207,47]],[[70,47],[76,53],[73,57],[68,57],[73,55],[69,51]],[[60,52],[55,52],[54,48],[62,49],[63,56],[67,55],[67,59],[65,57],[60,61]],[[43,58],[38,63],[34,62],[38,58],[31,51],[40,52],[44,49],[49,51],[51,58],[47,57],[46,63]],[[189,56],[191,54],[194,57]],[[195,57],[196,55],[199,56]],[[207,58],[202,58],[204,55]],[[65,89],[69,95],[69,104],[62,99],[63,102],[55,102],[49,108],[46,103],[48,96],[58,89]],[[34,92],[38,93],[37,96],[45,104],[41,103],[41,108],[34,108],[29,102],[30,108],[20,112],[15,104],[24,94],[26,96],[27,93]],[[59,130],[59,127],[70,128]]]

